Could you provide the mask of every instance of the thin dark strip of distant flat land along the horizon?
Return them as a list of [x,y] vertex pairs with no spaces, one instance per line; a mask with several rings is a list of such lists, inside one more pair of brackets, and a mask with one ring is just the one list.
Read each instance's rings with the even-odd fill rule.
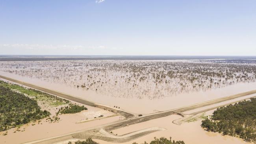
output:
[[255,61],[256,56],[222,55],[0,55],[0,61],[57,61],[57,60],[189,60],[223,59]]

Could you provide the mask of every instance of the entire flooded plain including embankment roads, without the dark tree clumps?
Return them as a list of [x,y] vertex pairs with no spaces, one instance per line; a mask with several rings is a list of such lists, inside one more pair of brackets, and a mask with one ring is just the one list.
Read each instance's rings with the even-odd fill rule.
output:
[[[49,94],[55,91],[58,98],[62,97],[59,92],[89,102],[71,100],[88,110],[61,114],[61,121],[54,124],[28,124],[22,133],[9,129],[8,135],[0,135],[4,137],[1,142],[65,144],[93,138],[99,143],[131,144],[164,136],[186,144],[248,143],[205,131],[200,124],[217,107],[256,96],[254,59],[1,61],[0,76],[4,81],[14,79],[9,79],[11,83],[17,80],[16,84],[24,87],[40,87]],[[228,96],[234,98],[222,99]],[[49,105],[45,109],[57,112]],[[89,136],[76,137],[76,133]]]

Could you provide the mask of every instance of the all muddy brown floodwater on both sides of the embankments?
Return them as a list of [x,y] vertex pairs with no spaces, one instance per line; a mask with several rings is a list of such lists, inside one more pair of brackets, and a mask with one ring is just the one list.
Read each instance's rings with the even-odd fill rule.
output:
[[[210,61],[204,62],[204,64],[199,62],[189,60],[180,62],[14,61],[1,62],[0,75],[80,97],[101,105],[117,106],[120,107],[120,110],[135,115],[167,111],[256,89],[255,64],[228,65]],[[151,68],[152,66],[153,68]],[[245,70],[243,71],[241,68],[245,68]],[[224,77],[219,75],[224,72],[223,70],[226,72]],[[215,74],[211,75],[212,72]],[[212,88],[209,88],[210,85]],[[252,95],[217,103],[214,106],[241,100]],[[189,114],[212,106],[200,107],[184,113]],[[206,115],[212,113],[213,110],[208,111]],[[88,106],[88,111],[61,115],[61,121],[58,123],[48,124],[43,120],[43,124],[25,125],[22,127],[25,128],[25,131],[17,133],[13,133],[15,129],[9,129],[8,135],[0,135],[0,144],[16,144],[63,135],[102,124],[118,122],[120,118],[120,116],[113,116],[80,124],[76,123],[83,121],[85,117],[91,119],[95,114],[113,115],[111,112],[108,113],[108,111]],[[248,143],[240,138],[207,132],[200,127],[201,120],[184,122],[181,125],[172,123],[173,120],[179,118],[181,116],[174,114],[125,126],[112,132],[120,136],[152,127],[161,129],[122,144],[150,142],[154,137],[172,137],[174,140],[184,140],[186,144]],[[96,141],[100,144],[113,144],[102,140]]]

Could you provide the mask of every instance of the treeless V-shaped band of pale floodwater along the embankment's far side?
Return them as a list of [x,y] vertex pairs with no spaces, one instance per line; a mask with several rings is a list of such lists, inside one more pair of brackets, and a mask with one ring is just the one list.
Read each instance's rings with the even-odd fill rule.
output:
[[[72,96],[77,96],[85,100],[89,100],[102,105],[108,105],[110,107],[118,106],[121,110],[137,114],[148,114],[154,113],[156,111],[166,111],[256,89],[256,82],[237,83],[234,85],[228,85],[221,89],[211,89],[206,91],[182,93],[171,97],[150,100],[148,98],[137,99],[104,96],[90,90],[85,91],[82,89],[69,87],[61,83],[50,83],[39,79],[32,79],[24,76],[10,74],[7,72],[0,72],[0,75],[24,81],[27,83],[32,83],[34,85],[38,85],[40,87],[44,87],[47,89],[52,89],[62,93],[70,94]],[[130,106],[131,103],[132,107]]]

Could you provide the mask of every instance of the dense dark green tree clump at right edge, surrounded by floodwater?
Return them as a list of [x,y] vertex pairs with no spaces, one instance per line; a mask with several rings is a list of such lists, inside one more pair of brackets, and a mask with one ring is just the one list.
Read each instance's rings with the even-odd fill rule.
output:
[[256,141],[256,98],[218,108],[210,118],[202,121],[207,131]]

